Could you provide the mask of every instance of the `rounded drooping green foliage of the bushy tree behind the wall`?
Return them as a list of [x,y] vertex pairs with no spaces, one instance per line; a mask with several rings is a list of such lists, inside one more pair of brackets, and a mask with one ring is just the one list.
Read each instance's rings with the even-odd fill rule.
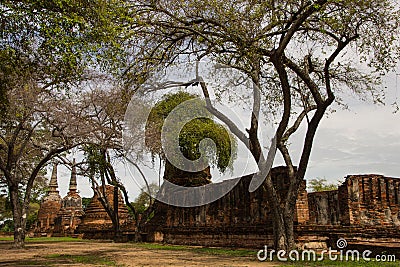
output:
[[[190,105],[184,108],[178,106],[186,101]],[[236,156],[236,143],[227,129],[216,123],[211,114],[207,111],[205,102],[197,96],[178,92],[166,95],[151,110],[146,125],[146,146],[151,153],[165,157],[161,144],[161,131],[165,119],[171,112],[175,112],[173,118],[180,121],[188,121],[179,133],[171,132],[168,135],[179,134],[179,150],[189,160],[198,160],[202,153],[206,153],[208,164],[216,166],[221,172],[232,164]],[[205,142],[204,151],[200,151],[200,142],[204,139],[211,139],[216,146],[216,155],[213,155],[211,142]]]

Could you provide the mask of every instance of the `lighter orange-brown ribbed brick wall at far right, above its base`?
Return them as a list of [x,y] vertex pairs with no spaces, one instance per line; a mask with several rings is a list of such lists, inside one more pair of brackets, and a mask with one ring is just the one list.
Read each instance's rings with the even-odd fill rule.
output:
[[310,224],[400,226],[400,179],[349,175],[338,190],[308,194]]

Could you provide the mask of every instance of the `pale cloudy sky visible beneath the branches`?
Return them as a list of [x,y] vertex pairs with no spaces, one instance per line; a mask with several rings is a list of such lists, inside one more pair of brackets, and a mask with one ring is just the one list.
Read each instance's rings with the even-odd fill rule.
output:
[[[345,99],[349,109],[338,108],[323,118],[317,130],[305,179],[319,177],[337,183],[350,174],[374,173],[400,177],[400,112],[394,113],[395,108],[391,106],[391,103],[400,100],[400,68],[397,72],[387,75],[385,79],[385,105],[374,105],[349,97]],[[299,154],[298,143],[304,129],[303,124],[293,136],[290,149],[294,155]],[[245,159],[246,156],[241,159],[239,155],[239,161]],[[298,157],[294,159],[294,162],[298,162]],[[277,156],[274,165],[282,163],[280,156]],[[248,172],[253,167],[250,163]],[[118,164],[116,169],[128,189],[130,201],[133,201],[142,185],[131,177],[129,169],[123,164]],[[63,166],[59,166],[58,170],[59,191],[64,196],[68,191],[70,171]],[[77,182],[82,197],[93,196],[87,178],[78,176]]]

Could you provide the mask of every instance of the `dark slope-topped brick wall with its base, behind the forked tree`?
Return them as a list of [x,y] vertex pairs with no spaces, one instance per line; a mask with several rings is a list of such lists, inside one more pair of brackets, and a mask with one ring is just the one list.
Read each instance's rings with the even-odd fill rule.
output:
[[[289,182],[287,169],[273,168],[271,175],[283,194]],[[182,208],[157,202],[154,217],[148,223],[148,231],[152,233],[149,240],[240,247],[272,245],[271,209],[267,193],[264,187],[250,193],[251,179],[252,176],[240,178],[225,196],[200,207]],[[216,185],[215,190],[219,186]],[[173,194],[171,197],[174,197]],[[294,220],[297,225],[306,224],[309,220],[305,181],[299,190]]]

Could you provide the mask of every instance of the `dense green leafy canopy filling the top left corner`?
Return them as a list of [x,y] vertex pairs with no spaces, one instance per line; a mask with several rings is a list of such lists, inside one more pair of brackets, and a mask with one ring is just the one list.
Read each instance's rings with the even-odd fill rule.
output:
[[42,88],[87,79],[87,67],[117,69],[122,1],[6,0],[0,4],[0,100],[20,77]]

